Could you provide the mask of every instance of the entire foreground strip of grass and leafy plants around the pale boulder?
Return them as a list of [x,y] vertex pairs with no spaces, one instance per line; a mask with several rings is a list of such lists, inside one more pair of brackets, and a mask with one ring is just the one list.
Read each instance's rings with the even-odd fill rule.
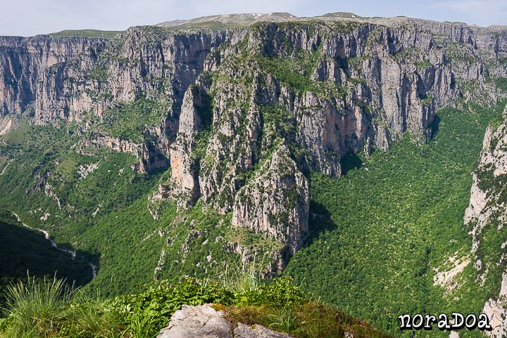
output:
[[8,289],[0,337],[154,338],[183,304],[209,303],[234,324],[261,324],[296,338],[342,337],[344,332],[360,338],[387,337],[332,306],[310,301],[289,278],[247,290],[183,278],[110,300],[89,297],[61,280],[29,278]]

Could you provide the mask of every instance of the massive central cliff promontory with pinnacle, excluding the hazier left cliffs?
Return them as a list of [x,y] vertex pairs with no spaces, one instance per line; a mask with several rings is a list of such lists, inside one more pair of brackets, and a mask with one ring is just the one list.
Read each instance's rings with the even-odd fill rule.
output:
[[[192,123],[180,128],[171,152],[172,186],[161,186],[158,195],[200,198],[232,212],[234,226],[264,233],[294,252],[308,223],[305,184],[295,189],[297,205],[287,196],[301,172],[341,176],[344,155],[387,150],[406,131],[424,142],[437,109],[458,102],[465,83],[487,86],[476,51],[460,51],[480,65],[471,71],[451,62],[449,48],[437,46],[427,30],[357,22],[264,24],[234,32],[204,68],[206,76],[213,74],[204,89],[213,98],[206,151],[192,150],[196,137],[189,135],[199,130],[192,103],[180,117]],[[493,102],[494,94],[484,98]],[[277,140],[294,160],[288,185],[273,171],[261,174]]]

